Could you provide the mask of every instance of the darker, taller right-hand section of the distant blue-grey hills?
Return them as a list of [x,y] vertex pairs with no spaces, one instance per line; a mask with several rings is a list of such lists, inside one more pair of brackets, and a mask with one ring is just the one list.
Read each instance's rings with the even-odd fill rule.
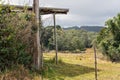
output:
[[102,28],[104,27],[103,26],[81,26],[80,27],[81,30],[86,30],[90,32],[99,32]]

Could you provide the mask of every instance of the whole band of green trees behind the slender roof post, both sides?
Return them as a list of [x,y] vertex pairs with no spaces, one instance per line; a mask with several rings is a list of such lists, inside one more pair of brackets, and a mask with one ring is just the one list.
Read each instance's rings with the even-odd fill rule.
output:
[[[44,28],[42,42],[45,49],[54,50],[54,27],[48,26]],[[59,51],[80,52],[86,48],[92,47],[91,42],[96,38],[97,33],[87,32],[84,30],[63,30],[61,26],[57,26],[57,43]]]

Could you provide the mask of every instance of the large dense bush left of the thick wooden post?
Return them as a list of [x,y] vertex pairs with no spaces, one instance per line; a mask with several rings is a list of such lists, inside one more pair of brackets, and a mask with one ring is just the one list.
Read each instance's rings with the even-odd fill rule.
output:
[[21,15],[11,12],[9,6],[0,6],[0,71],[17,64],[28,67],[32,62],[27,51],[31,24],[28,18]]

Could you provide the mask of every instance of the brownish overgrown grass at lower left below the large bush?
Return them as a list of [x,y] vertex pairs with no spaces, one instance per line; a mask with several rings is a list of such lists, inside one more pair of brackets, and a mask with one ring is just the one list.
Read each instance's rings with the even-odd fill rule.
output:
[[1,72],[0,80],[41,80],[41,76],[39,73],[26,69],[22,65],[16,65],[12,69]]

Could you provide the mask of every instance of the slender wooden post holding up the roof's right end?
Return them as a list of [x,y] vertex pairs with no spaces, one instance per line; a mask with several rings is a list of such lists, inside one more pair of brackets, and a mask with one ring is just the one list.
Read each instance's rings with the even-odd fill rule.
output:
[[55,62],[58,64],[58,48],[57,48],[57,32],[56,32],[56,17],[55,14],[53,14],[53,20],[54,20],[54,41],[55,41]]

